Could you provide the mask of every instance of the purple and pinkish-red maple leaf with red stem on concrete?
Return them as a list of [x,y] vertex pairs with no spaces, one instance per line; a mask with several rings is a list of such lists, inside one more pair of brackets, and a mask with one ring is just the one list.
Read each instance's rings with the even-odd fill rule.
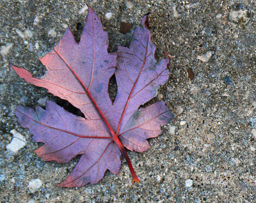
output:
[[[96,184],[106,170],[117,174],[121,153],[131,170],[132,183],[140,182],[125,147],[146,151],[150,147],[147,139],[157,137],[161,126],[173,118],[163,101],[139,109],[168,80],[169,63],[169,59],[156,63],[148,16],[142,24],[135,29],[129,48],[118,47],[117,54],[109,54],[108,34],[89,7],[79,43],[67,29],[52,52],[40,59],[47,68],[44,77],[36,79],[11,64],[22,79],[68,100],[85,116],[75,116],[52,101],[46,102],[45,109],[18,106],[15,110],[18,123],[29,128],[33,140],[44,142],[35,151],[43,160],[67,163],[81,154],[74,170],[58,186]],[[114,103],[108,93],[113,74],[118,86]]]

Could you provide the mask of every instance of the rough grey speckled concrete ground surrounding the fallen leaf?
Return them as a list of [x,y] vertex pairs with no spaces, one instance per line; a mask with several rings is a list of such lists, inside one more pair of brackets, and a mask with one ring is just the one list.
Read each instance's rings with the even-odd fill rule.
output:
[[[33,151],[42,144],[32,142],[13,115],[19,104],[60,101],[19,79],[9,61],[44,75],[36,59],[56,45],[67,26],[79,39],[86,3],[108,31],[110,52],[132,39],[133,28],[119,33],[120,23],[140,25],[150,12],[157,59],[164,52],[172,56],[170,79],[157,100],[177,116],[150,140],[150,150],[129,152],[141,179],[133,187],[124,160],[117,176],[107,172],[99,184],[57,187],[78,158],[67,164],[40,160]],[[255,8],[252,0],[0,1],[1,202],[256,202]],[[27,140],[18,154],[6,150],[13,129]],[[31,193],[33,179],[42,186]]]

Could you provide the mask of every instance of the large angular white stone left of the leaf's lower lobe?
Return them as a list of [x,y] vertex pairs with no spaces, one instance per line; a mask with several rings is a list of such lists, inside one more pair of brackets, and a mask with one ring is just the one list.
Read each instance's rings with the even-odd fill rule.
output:
[[26,146],[26,138],[14,129],[10,133],[13,134],[13,139],[10,144],[6,145],[6,149],[17,154],[20,149]]

